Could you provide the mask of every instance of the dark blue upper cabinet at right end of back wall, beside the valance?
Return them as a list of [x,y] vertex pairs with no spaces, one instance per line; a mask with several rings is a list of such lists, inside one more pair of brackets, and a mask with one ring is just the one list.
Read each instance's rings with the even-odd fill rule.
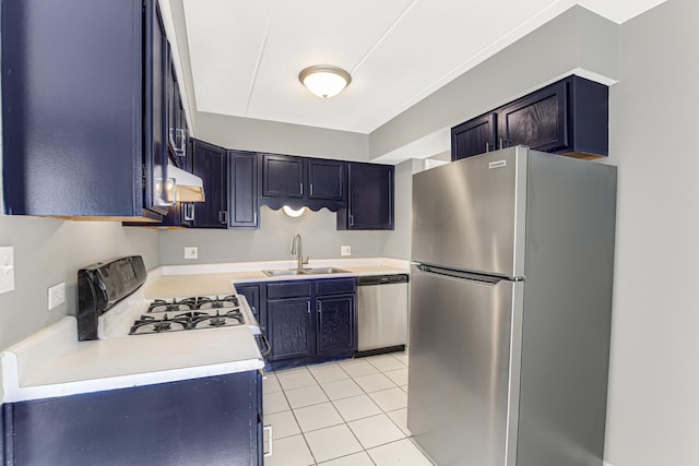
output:
[[337,229],[393,229],[393,166],[347,164],[347,206],[337,211]]

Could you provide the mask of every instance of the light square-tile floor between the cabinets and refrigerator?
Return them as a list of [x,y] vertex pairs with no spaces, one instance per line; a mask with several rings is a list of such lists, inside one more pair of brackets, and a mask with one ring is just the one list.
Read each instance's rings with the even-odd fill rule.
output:
[[265,466],[431,466],[405,423],[407,361],[393,353],[268,373]]

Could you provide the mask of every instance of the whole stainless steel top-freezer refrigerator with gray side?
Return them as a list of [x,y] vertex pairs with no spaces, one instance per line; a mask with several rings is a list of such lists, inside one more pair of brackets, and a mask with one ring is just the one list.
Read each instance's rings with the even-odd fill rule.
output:
[[413,176],[407,427],[439,466],[602,465],[616,167],[511,147]]

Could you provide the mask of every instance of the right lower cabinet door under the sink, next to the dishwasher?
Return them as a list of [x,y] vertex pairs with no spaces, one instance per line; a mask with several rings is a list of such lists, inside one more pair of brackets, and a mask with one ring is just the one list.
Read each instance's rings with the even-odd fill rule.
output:
[[318,297],[318,355],[356,349],[354,295]]

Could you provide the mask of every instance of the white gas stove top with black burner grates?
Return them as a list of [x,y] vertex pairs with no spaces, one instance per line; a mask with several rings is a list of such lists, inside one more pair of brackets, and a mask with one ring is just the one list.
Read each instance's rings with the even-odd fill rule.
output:
[[155,299],[147,306],[145,313],[133,322],[129,335],[218,328],[247,323],[244,307],[236,295]]

